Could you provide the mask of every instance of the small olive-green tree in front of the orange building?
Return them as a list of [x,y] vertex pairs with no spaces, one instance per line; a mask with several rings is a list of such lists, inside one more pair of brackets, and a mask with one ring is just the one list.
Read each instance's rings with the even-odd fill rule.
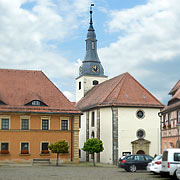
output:
[[59,154],[60,153],[68,153],[68,149],[69,149],[68,143],[65,140],[62,140],[62,141],[58,141],[54,144],[50,144],[48,147],[52,153],[57,154],[56,166],[58,166]]

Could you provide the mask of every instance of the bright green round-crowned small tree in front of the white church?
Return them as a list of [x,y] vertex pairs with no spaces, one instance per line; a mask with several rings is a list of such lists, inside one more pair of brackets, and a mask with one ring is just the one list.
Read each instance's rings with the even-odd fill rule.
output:
[[100,152],[102,152],[104,150],[103,143],[102,143],[101,140],[99,140],[97,138],[88,139],[84,143],[84,147],[82,148],[82,150],[88,152],[89,154],[92,154],[92,156],[93,156],[93,164],[95,166],[94,154],[95,153],[100,153]]

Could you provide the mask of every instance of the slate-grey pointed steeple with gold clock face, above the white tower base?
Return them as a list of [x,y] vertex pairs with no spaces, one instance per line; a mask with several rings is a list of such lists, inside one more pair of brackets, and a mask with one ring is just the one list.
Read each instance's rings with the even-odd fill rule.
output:
[[79,75],[96,75],[104,76],[104,69],[101,65],[97,54],[97,39],[96,33],[93,27],[93,18],[92,18],[92,6],[90,6],[90,22],[86,38],[86,55],[83,60],[83,64],[80,67]]

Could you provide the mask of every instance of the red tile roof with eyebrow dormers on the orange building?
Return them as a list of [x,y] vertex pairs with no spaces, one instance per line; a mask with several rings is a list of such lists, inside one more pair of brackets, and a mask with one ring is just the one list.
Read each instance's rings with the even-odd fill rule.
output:
[[[0,112],[80,113],[42,71],[0,69]],[[39,100],[47,106],[25,106]]]

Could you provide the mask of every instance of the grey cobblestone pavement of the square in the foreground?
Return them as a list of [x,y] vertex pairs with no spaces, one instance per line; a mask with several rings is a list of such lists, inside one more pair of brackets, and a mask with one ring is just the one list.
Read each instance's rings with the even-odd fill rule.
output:
[[125,172],[117,167],[0,166],[0,180],[169,180],[146,171]]

